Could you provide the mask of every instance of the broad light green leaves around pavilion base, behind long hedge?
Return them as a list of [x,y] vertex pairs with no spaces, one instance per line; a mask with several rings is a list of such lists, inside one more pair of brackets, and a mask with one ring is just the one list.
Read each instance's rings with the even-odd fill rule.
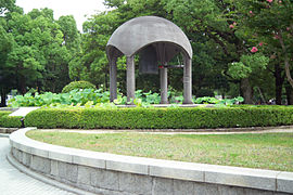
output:
[[[169,100],[171,104],[181,104],[183,96],[169,92]],[[133,103],[139,107],[150,107],[152,104],[160,104],[161,96],[156,92],[149,91],[143,93],[141,90],[136,91],[136,99]],[[198,98],[193,100],[196,104],[221,104],[232,105],[235,103],[243,102],[243,98],[239,96],[235,99],[217,100],[215,98]],[[50,106],[50,107],[66,107],[65,105],[72,106],[103,106],[101,104],[110,103],[110,92],[103,91],[102,89],[75,89],[68,93],[52,93],[46,92],[39,94],[38,92],[33,95],[26,93],[25,95],[16,95],[10,101],[10,106]],[[127,96],[118,93],[117,99],[114,100],[116,105],[127,104]]]

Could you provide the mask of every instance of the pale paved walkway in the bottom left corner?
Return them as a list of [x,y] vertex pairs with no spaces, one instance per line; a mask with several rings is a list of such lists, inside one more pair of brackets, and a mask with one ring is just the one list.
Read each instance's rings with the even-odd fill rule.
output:
[[73,195],[20,172],[7,160],[9,139],[0,138],[0,194],[1,195]]

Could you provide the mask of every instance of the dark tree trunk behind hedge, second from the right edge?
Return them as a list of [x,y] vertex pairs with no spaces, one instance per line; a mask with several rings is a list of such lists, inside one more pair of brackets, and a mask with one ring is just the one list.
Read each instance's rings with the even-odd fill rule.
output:
[[275,92],[276,92],[276,104],[282,104],[282,88],[284,82],[284,77],[282,76],[282,69],[279,64],[275,64]]

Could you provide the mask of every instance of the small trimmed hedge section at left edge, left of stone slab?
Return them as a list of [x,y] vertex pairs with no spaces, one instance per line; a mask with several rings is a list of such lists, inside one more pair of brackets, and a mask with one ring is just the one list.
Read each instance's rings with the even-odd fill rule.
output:
[[21,128],[22,122],[18,116],[9,116],[12,112],[0,112],[0,127],[2,128]]

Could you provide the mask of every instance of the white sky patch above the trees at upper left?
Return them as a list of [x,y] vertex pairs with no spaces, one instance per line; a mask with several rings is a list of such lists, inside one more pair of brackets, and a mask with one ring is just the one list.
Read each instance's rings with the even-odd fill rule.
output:
[[16,4],[23,8],[25,13],[33,9],[52,9],[55,20],[62,15],[73,15],[80,31],[87,16],[106,10],[103,0],[16,0]]

